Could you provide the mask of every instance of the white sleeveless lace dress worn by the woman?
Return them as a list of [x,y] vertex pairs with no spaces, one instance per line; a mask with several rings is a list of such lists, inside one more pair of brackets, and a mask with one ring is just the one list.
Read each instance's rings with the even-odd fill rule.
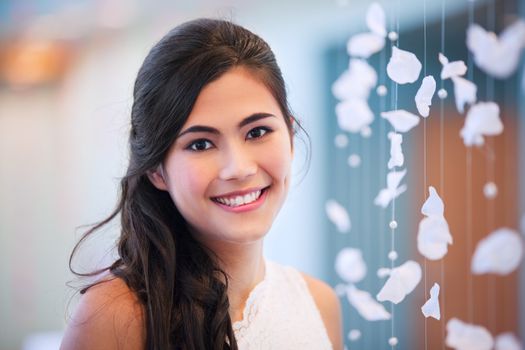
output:
[[321,314],[302,275],[266,261],[264,280],[233,324],[240,350],[332,349]]

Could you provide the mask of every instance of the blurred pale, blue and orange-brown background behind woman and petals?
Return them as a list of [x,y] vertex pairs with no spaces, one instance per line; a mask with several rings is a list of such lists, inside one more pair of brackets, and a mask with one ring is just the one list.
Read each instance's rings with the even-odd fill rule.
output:
[[[389,145],[384,120],[372,125],[372,137],[348,135],[337,148],[340,134],[331,85],[348,64],[346,41],[366,30],[368,0],[2,0],[0,1],[0,349],[57,348],[68,315],[75,305],[74,280],[68,269],[71,250],[85,231],[82,225],[104,218],[114,207],[119,177],[127,165],[126,138],[134,78],[142,60],[169,29],[195,17],[226,18],[263,37],[281,66],[295,115],[308,131],[312,148],[307,166],[306,147],[297,152],[289,199],[265,243],[268,259],[290,264],[332,286],[340,282],[334,258],[345,247],[363,251],[369,274],[360,288],[377,293],[384,283],[375,271],[386,266],[388,211],[372,202],[385,186]],[[424,54],[423,19],[428,32],[428,72],[439,75],[437,61],[444,20],[445,46],[451,60],[467,60],[465,31],[469,20],[493,23],[496,32],[523,17],[520,0],[398,0],[379,1],[388,26],[399,22],[401,47],[418,57]],[[423,7],[425,6],[425,8]],[[443,11],[445,9],[445,11]],[[425,11],[425,18],[423,16]],[[386,58],[388,59],[388,56]],[[385,77],[385,57],[371,60]],[[427,134],[418,128],[404,140],[408,191],[398,201],[397,250],[401,260],[422,263],[416,250],[419,209],[426,181],[438,183],[444,173],[445,215],[454,236],[443,265],[431,263],[429,281],[445,272],[446,316],[427,321],[420,306],[428,291],[418,286],[396,306],[395,334],[402,349],[444,348],[444,325],[452,316],[483,324],[494,334],[512,331],[525,335],[525,272],[505,277],[474,277],[466,292],[470,257],[466,247],[467,212],[472,215],[474,244],[500,226],[519,229],[525,213],[525,117],[523,64],[512,77],[492,82],[475,69],[478,98],[492,86],[500,103],[505,132],[489,142],[494,154],[499,195],[487,204],[482,195],[487,153],[473,150],[472,176],[466,178],[465,147],[459,137],[463,125],[453,98],[445,102],[445,166],[440,168],[439,120],[428,120]],[[436,79],[437,80],[437,79]],[[494,85],[492,85],[494,84]],[[417,87],[400,90],[399,103],[408,105]],[[449,91],[451,86],[447,86]],[[412,90],[411,90],[412,89]],[[492,93],[491,93],[492,95]],[[434,101],[437,101],[435,98]],[[379,110],[380,102],[371,98]],[[384,106],[383,106],[384,107]],[[377,118],[376,119],[380,119]],[[425,140],[423,140],[425,137]],[[423,143],[428,147],[423,151]],[[424,152],[424,153],[423,153]],[[361,165],[350,169],[350,153]],[[465,195],[470,181],[472,197]],[[325,214],[334,198],[352,217],[352,231],[336,232]],[[467,210],[468,209],[468,210]],[[491,217],[490,221],[487,217]],[[523,219],[522,219],[523,221]],[[470,232],[469,231],[469,232]],[[76,261],[80,269],[112,260],[118,225],[97,233]],[[388,247],[387,247],[388,246]],[[466,250],[467,249],[467,250]],[[390,321],[366,322],[345,298],[346,344],[355,349],[389,348]],[[361,338],[346,334],[359,329]]]

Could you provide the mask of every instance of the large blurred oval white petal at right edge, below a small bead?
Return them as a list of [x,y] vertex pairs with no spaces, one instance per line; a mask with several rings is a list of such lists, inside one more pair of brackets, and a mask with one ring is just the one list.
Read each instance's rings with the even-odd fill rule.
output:
[[518,232],[500,228],[479,241],[472,257],[473,274],[508,275],[516,270],[523,256],[523,241]]

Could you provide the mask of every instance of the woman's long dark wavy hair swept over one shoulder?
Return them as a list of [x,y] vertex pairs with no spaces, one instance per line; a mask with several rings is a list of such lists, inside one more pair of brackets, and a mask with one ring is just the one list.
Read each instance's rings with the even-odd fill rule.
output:
[[[294,133],[282,74],[264,40],[223,20],[179,25],[151,49],[138,72],[130,160],[117,207],[84,234],[70,256],[77,276],[109,270],[136,293],[144,309],[147,349],[237,349],[228,276],[217,256],[192,237],[169,194],[147,176],[164,160],[202,88],[236,66],[250,69],[268,87]],[[72,259],[79,245],[119,214],[119,258],[97,271],[75,271]]]

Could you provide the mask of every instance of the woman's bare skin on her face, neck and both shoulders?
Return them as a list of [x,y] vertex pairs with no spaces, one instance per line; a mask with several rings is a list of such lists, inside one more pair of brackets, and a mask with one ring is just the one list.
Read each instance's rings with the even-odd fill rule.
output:
[[[289,130],[266,86],[248,69],[237,67],[205,86],[179,135],[149,178],[170,193],[194,236],[220,258],[231,277],[229,313],[236,322],[250,292],[264,278],[263,239],[289,185]],[[225,210],[211,200],[263,188],[263,204],[243,212]],[[326,283],[303,277],[333,348],[343,349],[338,297]],[[142,307],[122,280],[113,279],[81,297],[61,349],[142,350],[145,337]]]

